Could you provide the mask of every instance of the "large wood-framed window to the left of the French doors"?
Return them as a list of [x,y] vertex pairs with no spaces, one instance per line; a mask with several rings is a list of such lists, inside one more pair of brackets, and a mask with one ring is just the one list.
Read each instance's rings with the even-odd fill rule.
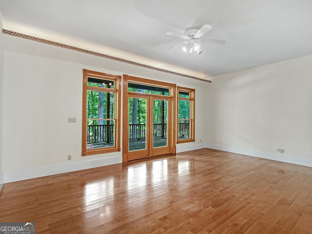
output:
[[82,156],[120,151],[121,76],[83,69]]

